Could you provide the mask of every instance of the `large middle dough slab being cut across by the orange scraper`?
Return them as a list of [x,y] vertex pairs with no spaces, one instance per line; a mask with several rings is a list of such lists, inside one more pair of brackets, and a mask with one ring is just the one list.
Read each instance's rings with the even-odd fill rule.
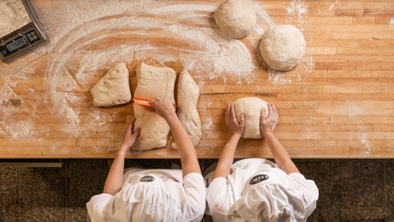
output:
[[[176,105],[174,98],[174,85],[176,73],[167,67],[154,67],[141,63],[135,69],[137,72],[137,87],[134,98],[155,100],[157,97],[169,98]],[[133,104],[134,129],[141,128],[132,148],[134,150],[147,150],[160,148],[167,144],[167,135],[170,127],[167,122],[156,114],[153,107]]]

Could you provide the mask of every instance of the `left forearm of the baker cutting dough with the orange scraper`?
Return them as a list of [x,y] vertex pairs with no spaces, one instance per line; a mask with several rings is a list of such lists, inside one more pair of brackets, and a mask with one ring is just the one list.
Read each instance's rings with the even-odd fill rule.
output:
[[110,172],[108,173],[107,180],[104,185],[104,193],[115,195],[122,189],[124,158],[126,156],[127,149],[122,146],[119,148],[114,162],[111,165]]

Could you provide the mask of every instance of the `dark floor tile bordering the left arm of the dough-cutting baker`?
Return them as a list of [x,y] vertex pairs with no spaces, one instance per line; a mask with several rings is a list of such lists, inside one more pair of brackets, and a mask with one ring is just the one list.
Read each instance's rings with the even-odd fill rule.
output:
[[103,193],[110,170],[107,159],[67,161],[67,207],[85,207],[94,195]]

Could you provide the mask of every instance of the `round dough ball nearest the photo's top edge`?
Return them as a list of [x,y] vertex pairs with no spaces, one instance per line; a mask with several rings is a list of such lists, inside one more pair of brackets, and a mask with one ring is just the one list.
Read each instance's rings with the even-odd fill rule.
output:
[[232,38],[243,38],[254,30],[256,12],[245,0],[227,0],[215,11],[220,31]]

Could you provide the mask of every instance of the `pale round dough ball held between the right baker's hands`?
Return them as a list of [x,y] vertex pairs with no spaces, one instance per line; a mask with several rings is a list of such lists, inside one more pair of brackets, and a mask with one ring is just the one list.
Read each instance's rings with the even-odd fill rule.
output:
[[245,97],[240,98],[232,103],[234,105],[235,116],[238,122],[241,115],[245,117],[245,131],[243,138],[261,138],[263,134],[260,131],[260,114],[264,109],[265,118],[268,117],[268,103],[260,98]]

